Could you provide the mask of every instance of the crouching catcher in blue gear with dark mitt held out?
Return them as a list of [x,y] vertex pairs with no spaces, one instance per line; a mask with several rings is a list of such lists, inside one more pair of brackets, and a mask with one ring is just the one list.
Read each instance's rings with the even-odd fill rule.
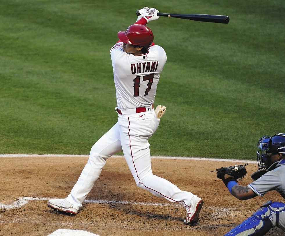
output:
[[[246,175],[247,164],[216,169],[217,177],[222,179],[230,193],[240,200],[257,195],[263,197],[271,190],[276,190],[285,199],[285,134],[263,136],[257,147],[258,170],[251,175],[254,180],[252,183],[242,186],[236,182]],[[275,226],[285,230],[285,204],[270,200],[224,236],[265,235]]]

